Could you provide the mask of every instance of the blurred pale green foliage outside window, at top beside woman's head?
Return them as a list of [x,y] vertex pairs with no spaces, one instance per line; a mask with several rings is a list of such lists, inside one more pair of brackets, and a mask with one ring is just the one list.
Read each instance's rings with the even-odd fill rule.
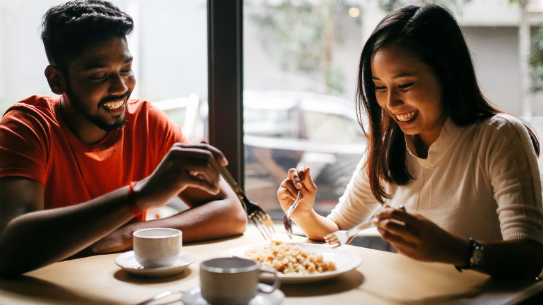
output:
[[[464,2],[470,0],[464,0]],[[437,3],[451,10],[459,8],[456,0],[418,1]],[[349,8],[358,2],[349,0],[251,0],[245,6],[249,17],[261,27],[264,49],[273,49],[274,60],[284,71],[307,76],[321,75],[327,94],[345,92],[345,79],[333,64],[333,49],[340,47],[348,33],[340,27],[338,18],[347,16]],[[414,3],[413,0],[379,0],[379,6],[390,12]],[[361,17],[355,17],[361,22]]]

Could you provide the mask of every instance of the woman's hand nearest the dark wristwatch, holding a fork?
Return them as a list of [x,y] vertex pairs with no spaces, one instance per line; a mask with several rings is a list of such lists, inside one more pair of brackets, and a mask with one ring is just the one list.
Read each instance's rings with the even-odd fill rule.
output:
[[377,230],[406,256],[416,260],[464,265],[467,239],[452,235],[420,214],[387,208],[375,214]]

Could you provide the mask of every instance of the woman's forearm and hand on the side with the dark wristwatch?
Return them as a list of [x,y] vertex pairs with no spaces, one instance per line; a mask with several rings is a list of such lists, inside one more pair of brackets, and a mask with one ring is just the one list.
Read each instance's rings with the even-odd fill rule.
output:
[[[416,260],[464,266],[471,257],[465,237],[450,234],[420,214],[386,209],[375,215],[377,230],[405,255]],[[491,276],[535,279],[543,268],[543,245],[532,240],[484,241],[482,263],[475,268]]]

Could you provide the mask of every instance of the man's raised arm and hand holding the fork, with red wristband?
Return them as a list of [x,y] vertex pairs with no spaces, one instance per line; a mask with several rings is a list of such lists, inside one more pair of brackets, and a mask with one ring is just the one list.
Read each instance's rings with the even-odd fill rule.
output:
[[[234,196],[221,196],[228,194],[221,193],[220,171],[226,164],[217,148],[177,143],[157,169],[134,186],[130,196],[128,187],[121,187],[91,201],[52,210],[43,210],[44,191],[40,183],[27,178],[0,178],[0,277],[15,276],[68,258],[132,219],[131,206],[147,210],[166,205],[185,190],[189,196],[191,189],[198,189],[194,198],[203,193],[223,198],[194,210],[200,211],[197,215],[189,214],[196,217],[193,221],[210,226],[207,230],[220,228],[221,221],[230,216],[229,209],[239,209],[233,200],[224,201]],[[214,208],[221,212],[217,214]],[[219,219],[207,222],[208,217]]]

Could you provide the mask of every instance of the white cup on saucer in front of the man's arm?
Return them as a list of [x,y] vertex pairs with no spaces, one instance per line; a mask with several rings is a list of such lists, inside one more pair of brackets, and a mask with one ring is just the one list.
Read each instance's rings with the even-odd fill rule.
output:
[[144,228],[132,233],[132,244],[143,267],[171,267],[181,257],[183,233],[173,228]]

